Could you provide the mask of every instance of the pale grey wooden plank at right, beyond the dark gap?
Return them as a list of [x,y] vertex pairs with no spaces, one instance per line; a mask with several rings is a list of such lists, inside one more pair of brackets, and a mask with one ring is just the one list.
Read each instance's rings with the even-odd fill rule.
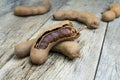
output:
[[120,18],[108,24],[95,80],[120,80]]

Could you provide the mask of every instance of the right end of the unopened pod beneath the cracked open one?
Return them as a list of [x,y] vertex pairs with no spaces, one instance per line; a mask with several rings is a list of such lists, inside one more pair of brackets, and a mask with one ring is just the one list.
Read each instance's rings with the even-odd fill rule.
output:
[[79,57],[80,46],[74,41],[63,41],[55,45],[51,51],[62,53],[70,59],[74,59]]

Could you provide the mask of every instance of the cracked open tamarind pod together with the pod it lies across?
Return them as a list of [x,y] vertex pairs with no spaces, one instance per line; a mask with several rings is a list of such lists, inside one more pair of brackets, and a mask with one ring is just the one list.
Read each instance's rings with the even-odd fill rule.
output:
[[17,44],[15,55],[19,58],[30,55],[30,60],[34,64],[44,63],[50,50],[73,59],[79,57],[79,44],[73,41],[79,36],[79,30],[71,21],[62,21],[49,27],[37,38]]

